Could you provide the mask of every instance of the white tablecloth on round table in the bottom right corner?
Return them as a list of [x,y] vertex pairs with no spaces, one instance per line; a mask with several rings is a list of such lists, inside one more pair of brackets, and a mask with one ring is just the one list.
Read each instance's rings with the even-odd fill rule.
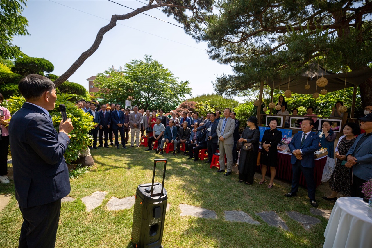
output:
[[341,197],[334,204],[324,232],[324,248],[372,247],[372,219],[368,204],[359,197]]

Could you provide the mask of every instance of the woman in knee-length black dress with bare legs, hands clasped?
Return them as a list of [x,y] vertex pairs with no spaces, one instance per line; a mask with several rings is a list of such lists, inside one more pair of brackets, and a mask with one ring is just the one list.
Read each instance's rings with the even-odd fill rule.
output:
[[265,182],[265,175],[267,166],[270,166],[270,182],[267,188],[272,188],[274,186],[274,178],[276,174],[275,167],[278,166],[278,144],[282,140],[282,131],[276,129],[278,125],[278,120],[276,118],[271,118],[269,120],[269,127],[263,134],[261,144],[261,174],[262,179],[260,184]]

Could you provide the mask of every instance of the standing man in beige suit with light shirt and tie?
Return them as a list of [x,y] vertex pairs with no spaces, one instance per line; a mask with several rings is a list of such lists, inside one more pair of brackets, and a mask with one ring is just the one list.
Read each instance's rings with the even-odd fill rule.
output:
[[219,170],[217,172],[225,172],[225,155],[227,159],[227,172],[225,176],[231,174],[232,171],[232,147],[234,146],[234,129],[235,120],[230,118],[231,109],[225,108],[224,119],[218,122],[217,137],[219,144]]

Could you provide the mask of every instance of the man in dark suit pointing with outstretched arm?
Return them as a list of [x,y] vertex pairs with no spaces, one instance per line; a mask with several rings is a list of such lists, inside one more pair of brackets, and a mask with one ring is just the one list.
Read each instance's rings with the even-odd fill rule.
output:
[[209,115],[209,121],[207,121],[203,126],[193,129],[194,132],[200,131],[202,129],[205,129],[207,131],[205,139],[208,147],[208,161],[205,161],[205,163],[212,162],[212,156],[216,152],[218,147],[217,125],[218,121],[216,121],[216,114],[211,113]]

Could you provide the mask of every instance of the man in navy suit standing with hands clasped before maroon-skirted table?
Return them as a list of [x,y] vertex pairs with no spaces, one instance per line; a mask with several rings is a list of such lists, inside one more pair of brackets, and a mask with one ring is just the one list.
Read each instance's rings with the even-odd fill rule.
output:
[[289,149],[292,152],[291,164],[292,164],[292,190],[286,197],[293,197],[297,195],[300,174],[304,174],[308,196],[310,198],[310,204],[313,207],[317,207],[317,201],[315,200],[315,183],[314,183],[314,167],[315,159],[314,152],[318,150],[318,144],[320,137],[315,133],[311,132],[314,127],[314,121],[311,118],[305,118],[301,123],[302,133],[296,133],[289,143]]

